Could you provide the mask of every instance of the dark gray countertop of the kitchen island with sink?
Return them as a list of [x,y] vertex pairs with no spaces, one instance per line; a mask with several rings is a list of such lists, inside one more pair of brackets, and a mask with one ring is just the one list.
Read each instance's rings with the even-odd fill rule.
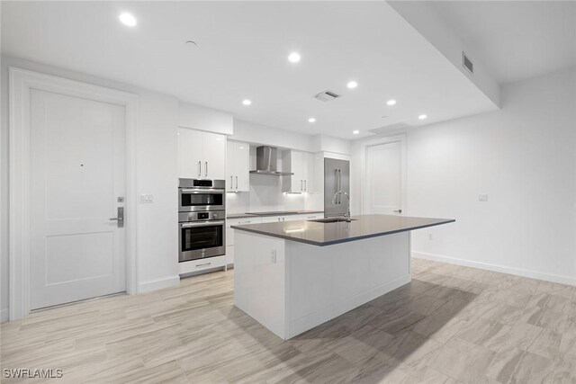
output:
[[312,246],[330,246],[368,237],[391,235],[393,233],[455,222],[455,219],[410,218],[408,216],[392,215],[363,215],[353,216],[352,219],[356,220],[349,223],[346,221],[318,223],[299,220],[232,226],[232,228],[270,237],[299,241]]

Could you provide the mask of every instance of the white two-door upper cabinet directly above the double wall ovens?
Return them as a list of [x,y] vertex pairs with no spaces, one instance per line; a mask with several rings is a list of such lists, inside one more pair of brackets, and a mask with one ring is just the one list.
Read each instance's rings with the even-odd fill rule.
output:
[[179,127],[178,177],[225,179],[226,135]]

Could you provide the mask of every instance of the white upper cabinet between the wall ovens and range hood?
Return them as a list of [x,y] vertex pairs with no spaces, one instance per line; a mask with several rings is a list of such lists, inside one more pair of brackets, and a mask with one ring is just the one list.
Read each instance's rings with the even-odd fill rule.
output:
[[250,146],[241,141],[229,141],[226,151],[226,191],[250,191]]

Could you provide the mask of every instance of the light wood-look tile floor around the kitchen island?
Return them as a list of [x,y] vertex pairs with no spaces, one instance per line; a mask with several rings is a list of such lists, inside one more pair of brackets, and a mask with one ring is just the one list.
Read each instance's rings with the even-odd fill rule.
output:
[[2,325],[1,365],[61,369],[58,383],[576,383],[576,287],[422,260],[412,272],[287,342],[233,307],[233,271],[52,308]]

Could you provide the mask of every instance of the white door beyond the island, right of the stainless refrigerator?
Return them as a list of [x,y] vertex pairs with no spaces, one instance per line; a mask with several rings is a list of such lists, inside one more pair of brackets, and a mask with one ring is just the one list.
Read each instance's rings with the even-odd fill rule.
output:
[[401,214],[403,201],[402,142],[367,146],[365,214]]

